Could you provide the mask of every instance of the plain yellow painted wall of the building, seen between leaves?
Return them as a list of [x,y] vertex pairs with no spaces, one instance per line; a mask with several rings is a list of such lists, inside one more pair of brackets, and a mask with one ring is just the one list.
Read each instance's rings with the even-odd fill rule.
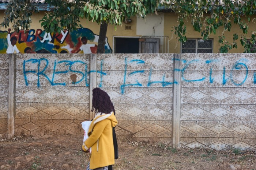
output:
[[[41,23],[39,23],[39,20],[42,19],[44,16],[45,12],[40,12],[40,13],[35,13],[32,16],[32,24],[31,24],[31,29],[43,29],[41,27]],[[0,11],[0,17],[3,18],[4,16],[4,11]],[[147,17],[150,17],[148,15]],[[130,24],[125,24],[123,23],[123,26],[117,26],[117,30],[115,31],[114,25],[109,25],[108,26],[108,31],[107,31],[107,37],[108,37],[108,43],[110,47],[113,50],[113,36],[141,36],[141,35],[136,35],[136,17],[132,17],[132,22]],[[238,33],[240,35],[242,31],[240,31],[240,28],[238,25],[235,25],[232,23],[233,26],[231,27],[231,31],[225,32],[225,37],[226,40],[229,42],[233,42],[233,33]],[[99,35],[99,25],[97,23],[93,23],[91,21],[88,21],[86,19],[81,20],[81,25],[85,28],[91,29],[91,31],[94,32],[94,34]],[[125,25],[131,26],[131,30],[125,29]],[[180,42],[178,42],[178,39],[176,38],[176,35],[174,35],[174,32],[171,32],[173,29],[172,27],[174,25],[178,25],[177,22],[177,15],[175,13],[164,13],[164,30],[163,30],[163,35],[169,36],[169,53],[180,53]],[[190,21],[187,21],[187,38],[201,38],[201,34],[199,32],[196,32],[193,30],[193,27],[191,25]],[[253,30],[253,28],[256,28],[255,23],[250,23],[249,24],[249,31],[248,31],[248,37],[250,35],[250,32]],[[148,29],[148,28],[144,28]],[[4,31],[7,29],[1,28],[1,31]],[[237,32],[238,31],[238,32]],[[217,29],[216,35],[211,34],[210,38],[214,40],[213,43],[213,52],[218,53],[219,52],[219,43],[218,43],[218,37],[221,35],[223,32],[223,28]],[[237,49],[232,49],[229,52],[230,53],[241,53],[243,52],[243,48],[240,45],[239,39],[237,40]],[[176,48],[175,48],[176,47]]]

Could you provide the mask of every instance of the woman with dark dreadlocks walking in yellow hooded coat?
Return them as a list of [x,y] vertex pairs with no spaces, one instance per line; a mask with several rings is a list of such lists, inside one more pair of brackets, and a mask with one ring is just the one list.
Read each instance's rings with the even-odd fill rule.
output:
[[83,143],[83,151],[91,147],[87,170],[108,170],[114,164],[113,127],[117,120],[109,95],[100,88],[93,89],[95,118],[89,127],[89,138]]

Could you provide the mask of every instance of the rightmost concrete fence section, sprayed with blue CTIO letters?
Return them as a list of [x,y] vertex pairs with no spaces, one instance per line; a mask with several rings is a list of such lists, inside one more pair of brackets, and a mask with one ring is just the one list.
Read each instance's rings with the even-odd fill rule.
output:
[[182,54],[182,146],[255,150],[255,58],[255,54]]

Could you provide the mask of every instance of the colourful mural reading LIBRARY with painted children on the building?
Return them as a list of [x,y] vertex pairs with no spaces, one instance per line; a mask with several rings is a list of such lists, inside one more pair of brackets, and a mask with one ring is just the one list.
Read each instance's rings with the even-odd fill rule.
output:
[[[0,53],[97,53],[99,36],[87,28],[78,31],[61,33],[46,33],[42,29],[21,30],[19,33],[0,31]],[[106,37],[105,53],[112,53]]]

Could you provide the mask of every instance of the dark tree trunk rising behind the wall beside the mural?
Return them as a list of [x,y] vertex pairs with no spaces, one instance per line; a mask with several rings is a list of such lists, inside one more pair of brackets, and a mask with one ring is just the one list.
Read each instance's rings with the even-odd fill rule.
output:
[[98,41],[97,54],[105,53],[107,29],[108,29],[108,23],[106,23],[105,21],[102,21],[101,28],[99,29],[99,41]]

